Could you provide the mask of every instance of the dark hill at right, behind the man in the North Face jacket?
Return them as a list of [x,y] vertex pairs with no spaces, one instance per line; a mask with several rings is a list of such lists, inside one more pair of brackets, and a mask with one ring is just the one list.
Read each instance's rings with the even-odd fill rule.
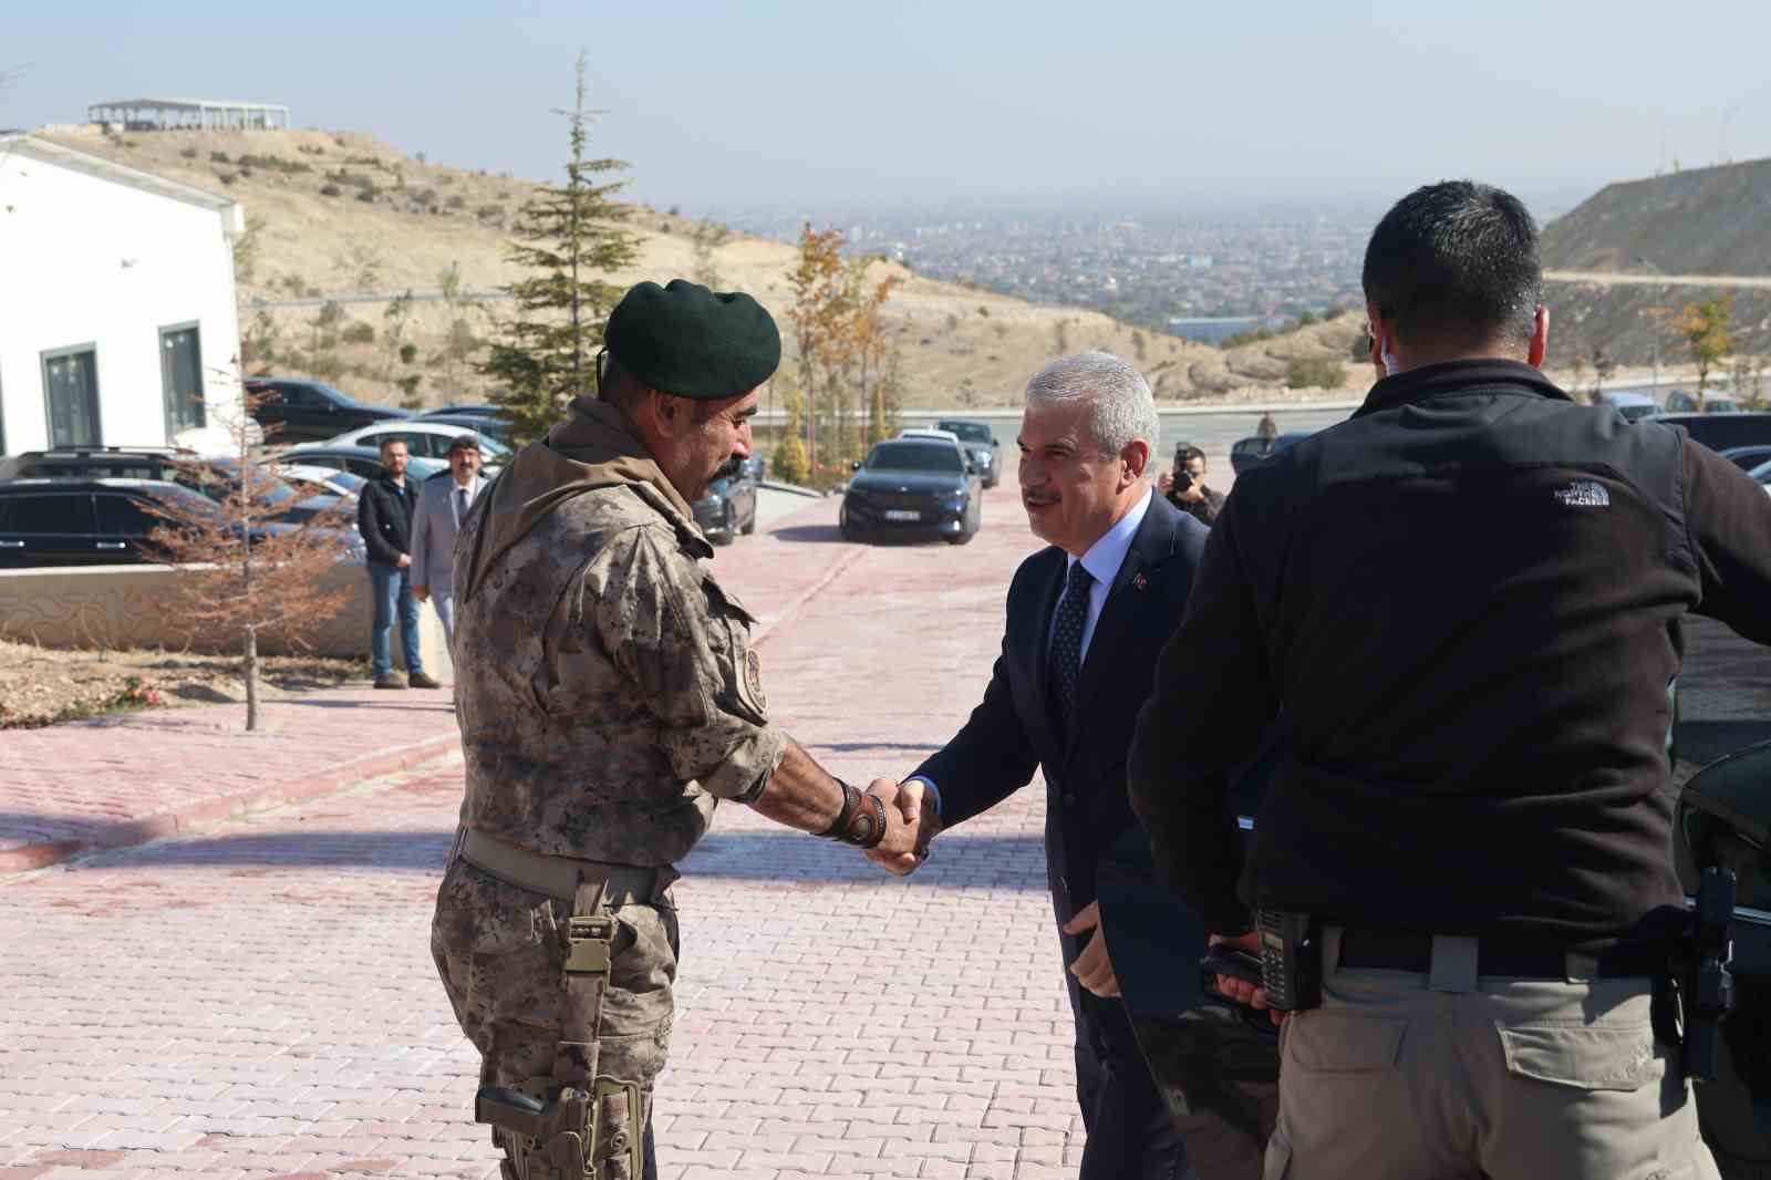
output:
[[1564,363],[1596,347],[1629,365],[1649,363],[1656,349],[1663,363],[1679,363],[1684,347],[1663,314],[1723,294],[1734,298],[1743,349],[1764,353],[1771,291],[1690,278],[1771,275],[1771,159],[1606,184],[1544,227],[1543,259],[1551,353]]

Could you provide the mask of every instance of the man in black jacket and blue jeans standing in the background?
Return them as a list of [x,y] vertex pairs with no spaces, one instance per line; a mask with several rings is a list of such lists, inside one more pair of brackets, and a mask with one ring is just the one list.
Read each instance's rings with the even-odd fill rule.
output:
[[[368,656],[375,664],[375,687],[443,687],[425,675],[418,654],[418,599],[413,597],[413,505],[418,489],[406,478],[406,441],[381,443],[381,475],[363,485],[356,501],[356,528],[368,547],[368,586],[375,602],[375,624],[368,636]],[[393,617],[400,617],[400,648],[406,656],[406,680],[393,673]]]

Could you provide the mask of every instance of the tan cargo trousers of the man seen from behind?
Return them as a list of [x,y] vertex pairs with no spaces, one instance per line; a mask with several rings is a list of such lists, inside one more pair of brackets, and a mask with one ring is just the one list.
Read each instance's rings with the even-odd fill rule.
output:
[[1691,1086],[1654,1040],[1651,980],[1339,959],[1330,927],[1323,1005],[1280,1033],[1266,1180],[1716,1180]]

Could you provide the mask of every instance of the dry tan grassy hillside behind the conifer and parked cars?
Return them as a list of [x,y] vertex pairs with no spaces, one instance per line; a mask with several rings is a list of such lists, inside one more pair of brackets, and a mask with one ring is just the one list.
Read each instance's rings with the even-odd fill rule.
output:
[[[439,276],[459,268],[460,285],[471,294],[494,292],[514,278],[505,230],[530,195],[530,182],[407,158],[356,133],[104,136],[64,129],[48,138],[227,193],[246,207],[255,229],[241,257],[241,326],[250,330],[264,305],[278,330],[278,370],[308,367],[319,307],[338,299],[345,321],[333,326],[340,335],[335,354],[344,367],[338,384],[349,392],[397,400],[395,381],[418,376],[418,399],[429,406],[480,400],[485,393],[471,367],[450,358],[448,338],[457,321],[476,338],[492,335],[507,305],[450,307],[437,296]],[[613,282],[705,275],[712,266],[723,287],[756,294],[777,317],[786,310],[792,246],[731,234],[698,257],[696,221],[645,207],[634,209],[632,229],[643,237],[641,262]],[[1342,317],[1296,337],[1220,351],[1094,312],[1032,307],[919,278],[893,264],[875,269],[903,280],[887,312],[903,349],[909,406],[1013,404],[1040,365],[1084,347],[1135,360],[1162,400],[1273,399],[1282,395],[1275,386],[1293,356],[1346,356],[1357,331],[1353,317]],[[404,291],[420,298],[406,333],[406,342],[416,345],[409,363],[390,342],[386,319],[388,299]],[[455,330],[459,344],[466,344],[462,328]]]

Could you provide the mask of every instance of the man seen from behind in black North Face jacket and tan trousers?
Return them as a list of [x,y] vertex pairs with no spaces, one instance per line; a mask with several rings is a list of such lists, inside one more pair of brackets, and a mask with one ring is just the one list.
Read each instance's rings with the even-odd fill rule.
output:
[[[1771,501],[1543,377],[1511,195],[1408,195],[1364,285],[1385,376],[1238,478],[1130,757],[1215,937],[1259,948],[1256,909],[1318,923],[1266,1175],[1714,1176],[1651,1024],[1684,920],[1667,686],[1690,611],[1771,641]],[[1238,886],[1226,772],[1279,710]]]

